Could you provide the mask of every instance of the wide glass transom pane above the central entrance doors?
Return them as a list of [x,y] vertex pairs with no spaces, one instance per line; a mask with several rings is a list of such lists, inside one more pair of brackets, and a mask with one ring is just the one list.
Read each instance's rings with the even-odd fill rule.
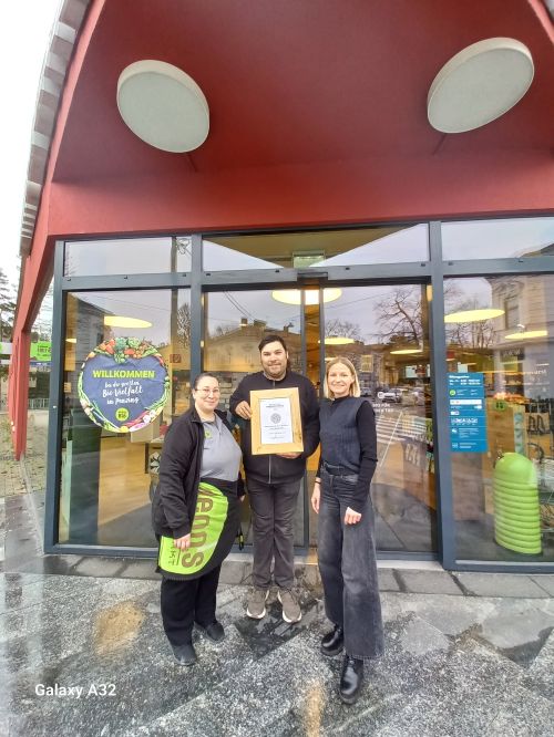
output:
[[428,253],[427,225],[265,236],[214,236],[203,241],[203,269],[236,271],[399,263],[427,261]]

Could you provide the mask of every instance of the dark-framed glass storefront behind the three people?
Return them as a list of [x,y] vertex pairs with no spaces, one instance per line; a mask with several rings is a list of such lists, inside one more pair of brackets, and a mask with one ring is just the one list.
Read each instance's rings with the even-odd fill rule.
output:
[[[357,367],[377,416],[381,557],[552,570],[552,227],[535,218],[58,243],[45,550],[153,556],[150,495],[191,377],[217,374],[228,406],[271,333],[320,396],[329,359]],[[104,401],[82,378],[91,355],[116,371],[129,354],[166,372],[138,429],[134,416],[114,428],[110,392],[121,385],[105,384]],[[298,550],[317,542],[317,461],[298,504]],[[248,542],[247,506],[243,517]]]

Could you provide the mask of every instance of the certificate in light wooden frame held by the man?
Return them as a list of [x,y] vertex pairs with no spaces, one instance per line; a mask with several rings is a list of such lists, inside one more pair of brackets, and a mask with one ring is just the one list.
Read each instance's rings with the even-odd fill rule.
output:
[[301,453],[302,422],[298,388],[250,392],[252,453]]

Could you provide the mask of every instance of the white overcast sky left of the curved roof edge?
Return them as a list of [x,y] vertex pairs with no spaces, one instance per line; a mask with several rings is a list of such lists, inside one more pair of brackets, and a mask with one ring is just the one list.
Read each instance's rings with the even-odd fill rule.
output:
[[42,63],[60,0],[12,0],[2,9],[0,60],[4,105],[2,128],[2,258],[0,264],[17,283],[21,212],[32,122]]

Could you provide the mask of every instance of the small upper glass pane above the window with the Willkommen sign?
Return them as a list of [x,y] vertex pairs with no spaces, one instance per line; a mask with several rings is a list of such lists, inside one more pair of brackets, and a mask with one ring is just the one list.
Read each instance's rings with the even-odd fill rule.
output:
[[120,238],[68,241],[66,277],[191,271],[192,238]]

